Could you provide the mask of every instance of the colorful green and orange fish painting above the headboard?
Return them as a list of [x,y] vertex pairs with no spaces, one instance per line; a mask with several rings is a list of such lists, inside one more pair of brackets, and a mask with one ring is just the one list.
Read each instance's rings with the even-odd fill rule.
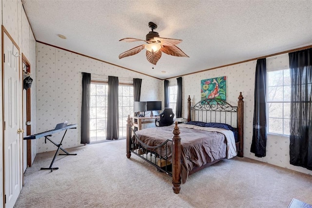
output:
[[226,76],[219,76],[200,81],[201,100],[222,99],[226,100]]

